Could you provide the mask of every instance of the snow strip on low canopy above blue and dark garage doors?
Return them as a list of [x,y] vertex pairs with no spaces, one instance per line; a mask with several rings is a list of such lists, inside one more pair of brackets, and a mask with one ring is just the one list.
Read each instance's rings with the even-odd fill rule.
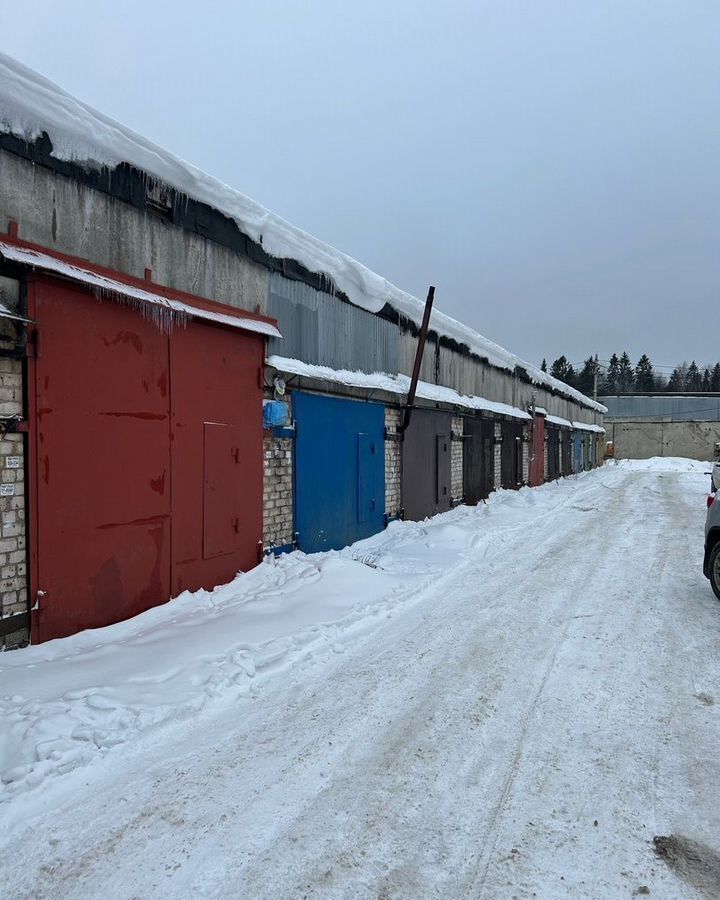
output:
[[[269,356],[267,363],[269,366],[287,375],[317,378],[322,381],[332,381],[336,384],[346,384],[349,387],[387,391],[391,394],[400,395],[407,394],[410,389],[410,378],[407,375],[388,375],[385,372],[368,374],[367,372],[351,372],[347,369],[331,369],[328,366],[305,363],[299,359],[287,359],[284,356]],[[530,418],[528,413],[517,406],[509,406],[507,403],[496,403],[494,400],[486,400],[484,397],[459,394],[452,388],[430,384],[427,381],[418,381],[416,396],[422,400],[462,406],[465,409],[494,412],[503,416],[512,416],[516,419]]]

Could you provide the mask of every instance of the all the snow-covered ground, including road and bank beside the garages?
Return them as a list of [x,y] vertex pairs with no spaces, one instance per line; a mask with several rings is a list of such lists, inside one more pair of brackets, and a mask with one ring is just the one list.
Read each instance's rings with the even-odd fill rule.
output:
[[0,896],[720,896],[708,471],[500,492],[3,654]]

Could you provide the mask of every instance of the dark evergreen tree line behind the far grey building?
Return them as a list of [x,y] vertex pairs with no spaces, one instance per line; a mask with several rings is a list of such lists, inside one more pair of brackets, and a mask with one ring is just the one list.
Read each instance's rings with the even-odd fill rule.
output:
[[[548,371],[547,361],[542,361],[543,372]],[[550,366],[550,374],[565,384],[592,396],[595,381],[595,358],[589,356],[582,367],[576,369],[566,356],[560,356]],[[655,371],[650,357],[643,353],[633,366],[630,356],[613,353],[607,365],[598,367],[598,396],[633,393],[634,391],[718,391],[720,392],[720,362],[700,368],[693,360],[675,366],[668,378]]]

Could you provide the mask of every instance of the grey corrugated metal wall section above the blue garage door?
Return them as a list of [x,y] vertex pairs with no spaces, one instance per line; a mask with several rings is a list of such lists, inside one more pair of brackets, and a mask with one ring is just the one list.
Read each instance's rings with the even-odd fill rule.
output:
[[398,371],[397,326],[331,294],[273,273],[268,315],[283,335],[270,339],[268,353],[333,369]]

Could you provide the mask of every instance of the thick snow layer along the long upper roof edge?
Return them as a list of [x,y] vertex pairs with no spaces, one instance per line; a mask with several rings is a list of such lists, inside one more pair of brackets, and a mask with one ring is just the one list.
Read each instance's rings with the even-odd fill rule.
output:
[[[379,312],[389,303],[420,324],[424,304],[381,275],[271,213],[259,203],[206,175],[141,135],[75,99],[53,82],[0,53],[0,131],[34,141],[47,132],[53,156],[87,168],[135,166],[181,193],[234,219],[240,230],[272,256],[294,259],[309,271],[329,276],[357,306]],[[552,378],[450,316],[433,311],[431,327],[466,344],[491,364],[514,370],[600,412],[605,407]]]

